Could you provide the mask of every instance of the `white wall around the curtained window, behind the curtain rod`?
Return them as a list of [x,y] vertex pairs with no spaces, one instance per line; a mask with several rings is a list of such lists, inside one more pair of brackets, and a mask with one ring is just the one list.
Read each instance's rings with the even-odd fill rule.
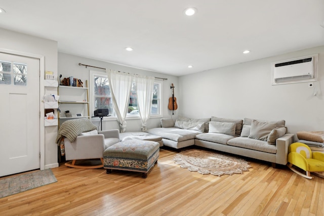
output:
[[[65,53],[58,54],[58,71],[59,71],[58,74],[62,74],[62,78],[73,76],[75,78],[81,79],[85,83],[85,80],[88,80],[88,82],[90,80],[90,70],[105,72],[105,70],[102,70],[102,69],[97,69],[97,68],[92,68],[92,67],[86,68],[85,66],[79,66],[78,63],[101,67],[101,68],[108,68],[108,69],[118,70],[118,71],[123,71],[123,72],[128,72],[128,73],[168,78],[168,80],[162,81],[162,83],[163,83],[163,93],[161,96],[161,102],[163,103],[162,113],[163,113],[164,118],[174,117],[174,116],[172,116],[172,112],[170,110],[168,110],[168,102],[169,102],[169,98],[172,97],[172,92],[170,89],[171,83],[174,83],[174,85],[176,87],[178,85],[178,77],[177,76],[161,74],[161,73],[156,73],[156,72],[142,70],[142,69],[131,68],[131,67],[127,67],[127,66],[112,64],[112,63],[108,63],[108,62],[104,62],[104,61],[74,56],[74,55],[65,54]],[[161,80],[161,79],[156,79],[156,80]],[[175,116],[176,116],[176,114],[177,114],[177,111],[175,112]],[[92,121],[94,122],[95,125],[99,125],[99,118],[92,118]],[[141,131],[141,120],[139,118],[126,119],[126,121],[127,121],[126,132]],[[160,118],[151,118],[147,122],[147,128],[156,127],[156,126],[159,126],[159,124],[160,124]],[[117,122],[116,119],[111,120],[111,118],[105,118],[103,120],[103,123],[102,123],[103,130],[118,129],[118,128],[119,128],[119,123]]]

